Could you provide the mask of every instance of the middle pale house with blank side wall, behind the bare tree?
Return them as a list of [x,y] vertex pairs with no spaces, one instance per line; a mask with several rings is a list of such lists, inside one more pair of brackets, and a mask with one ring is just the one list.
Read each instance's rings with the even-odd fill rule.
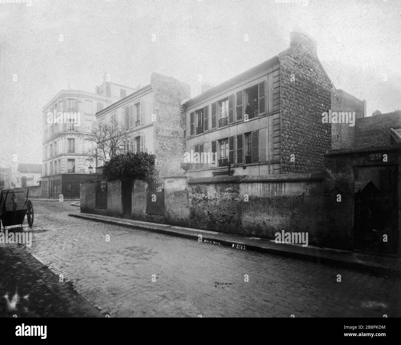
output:
[[156,155],[163,175],[177,174],[185,149],[185,115],[182,101],[190,86],[158,73],[150,84],[96,113],[99,121],[120,121],[128,131],[123,152],[148,151]]

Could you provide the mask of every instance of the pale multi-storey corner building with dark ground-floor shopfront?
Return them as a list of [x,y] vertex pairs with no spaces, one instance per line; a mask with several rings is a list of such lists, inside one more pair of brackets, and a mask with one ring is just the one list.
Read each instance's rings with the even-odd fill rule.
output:
[[43,107],[44,198],[59,198],[60,194],[64,198],[79,197],[79,184],[93,180],[89,166],[94,167],[95,162],[88,161],[90,148],[85,137],[96,120],[95,113],[111,103],[113,98],[106,95],[61,90]]

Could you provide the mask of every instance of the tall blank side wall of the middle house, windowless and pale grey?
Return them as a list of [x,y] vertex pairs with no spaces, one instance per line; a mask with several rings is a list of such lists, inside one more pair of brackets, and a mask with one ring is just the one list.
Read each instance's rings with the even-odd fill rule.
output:
[[182,173],[185,114],[180,105],[190,97],[190,85],[158,73],[152,73],[151,81],[156,112],[154,142],[157,161],[164,167],[164,176]]

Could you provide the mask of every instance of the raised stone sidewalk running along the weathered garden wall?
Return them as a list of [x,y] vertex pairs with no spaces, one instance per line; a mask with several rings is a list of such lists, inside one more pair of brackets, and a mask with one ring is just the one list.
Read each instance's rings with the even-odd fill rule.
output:
[[126,218],[115,218],[87,213],[71,213],[69,216],[125,226],[128,228],[148,230],[160,234],[178,236],[190,239],[201,239],[202,242],[216,243],[239,250],[254,250],[267,254],[275,254],[290,258],[308,260],[332,266],[345,267],[384,275],[399,275],[401,259],[354,253],[346,250],[307,246],[300,244],[281,244],[265,238],[248,237],[237,234],[184,228],[167,224],[142,222]]

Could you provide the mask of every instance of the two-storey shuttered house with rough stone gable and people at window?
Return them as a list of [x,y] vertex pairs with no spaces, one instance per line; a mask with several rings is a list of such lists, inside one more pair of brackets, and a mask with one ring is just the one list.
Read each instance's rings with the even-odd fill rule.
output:
[[350,145],[354,128],[322,114],[365,117],[365,104],[332,85],[314,39],[291,32],[290,48],[184,103],[191,176],[323,171],[324,153]]

